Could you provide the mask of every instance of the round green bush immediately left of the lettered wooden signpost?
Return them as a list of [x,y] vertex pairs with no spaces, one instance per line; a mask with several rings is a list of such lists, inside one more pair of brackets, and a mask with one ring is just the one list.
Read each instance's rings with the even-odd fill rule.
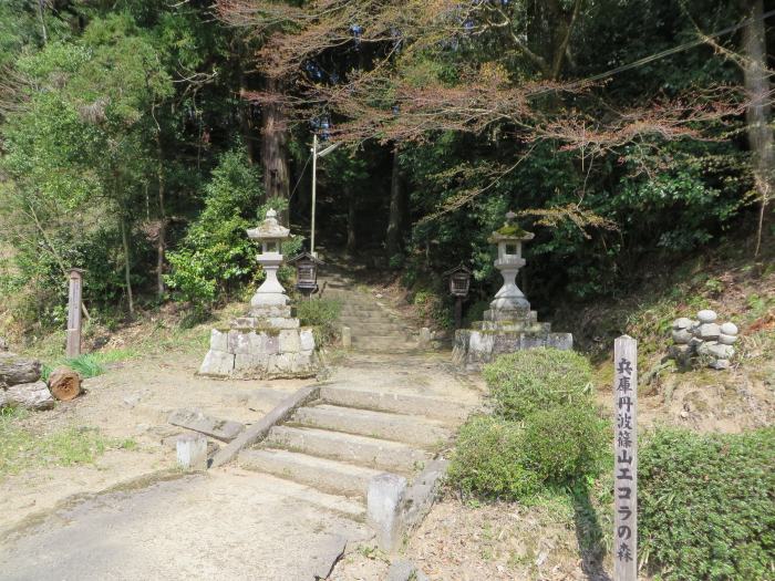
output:
[[608,422],[589,405],[552,407],[525,419],[528,467],[542,481],[567,485],[597,476],[610,442]]

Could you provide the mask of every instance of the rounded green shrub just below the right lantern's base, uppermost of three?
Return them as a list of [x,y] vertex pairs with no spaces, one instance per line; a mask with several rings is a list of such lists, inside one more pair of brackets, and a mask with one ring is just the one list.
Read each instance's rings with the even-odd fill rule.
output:
[[538,409],[587,401],[592,382],[586,357],[546,347],[502,355],[485,365],[483,373],[495,413],[506,419],[523,419]]

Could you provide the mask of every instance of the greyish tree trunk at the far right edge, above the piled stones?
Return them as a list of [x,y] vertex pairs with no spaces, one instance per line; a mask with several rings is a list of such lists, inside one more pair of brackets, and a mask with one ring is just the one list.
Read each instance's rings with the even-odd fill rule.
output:
[[760,201],[755,256],[762,249],[762,234],[767,214],[767,204],[775,187],[775,151],[773,129],[769,126],[769,76],[767,74],[767,48],[764,28],[763,0],[744,0],[748,24],[743,28],[743,74],[748,106],[745,111],[748,145],[754,170],[754,181]]

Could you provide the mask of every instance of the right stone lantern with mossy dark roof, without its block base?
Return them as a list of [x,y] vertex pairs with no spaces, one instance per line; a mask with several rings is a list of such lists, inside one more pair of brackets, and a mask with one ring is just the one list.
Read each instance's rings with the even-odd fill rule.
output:
[[503,287],[495,294],[495,300],[489,303],[493,311],[527,312],[530,310],[530,303],[525,298],[525,293],[517,287],[516,278],[519,269],[526,263],[523,258],[523,242],[533,240],[535,235],[514,224],[516,217],[517,215],[513,211],[506,214],[506,222],[489,238],[489,241],[498,247],[495,268],[500,271],[504,278]]

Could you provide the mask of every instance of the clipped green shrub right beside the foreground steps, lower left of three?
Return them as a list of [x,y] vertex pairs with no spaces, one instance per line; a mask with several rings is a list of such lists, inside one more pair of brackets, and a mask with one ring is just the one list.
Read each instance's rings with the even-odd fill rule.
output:
[[489,416],[473,416],[461,428],[450,478],[466,492],[513,500],[535,494],[540,484],[525,467],[521,428]]

